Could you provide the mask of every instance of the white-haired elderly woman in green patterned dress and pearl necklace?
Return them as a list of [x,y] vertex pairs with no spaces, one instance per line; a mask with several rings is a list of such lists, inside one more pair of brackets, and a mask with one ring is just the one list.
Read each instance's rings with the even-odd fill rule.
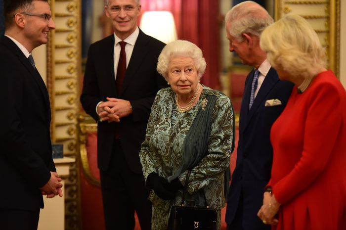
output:
[[172,205],[180,205],[188,170],[186,206],[206,203],[218,210],[220,228],[233,109],[227,96],[200,84],[205,68],[202,50],[188,41],[168,44],[159,56],[157,70],[171,87],[156,95],[139,153],[151,189],[152,230],[167,229]]

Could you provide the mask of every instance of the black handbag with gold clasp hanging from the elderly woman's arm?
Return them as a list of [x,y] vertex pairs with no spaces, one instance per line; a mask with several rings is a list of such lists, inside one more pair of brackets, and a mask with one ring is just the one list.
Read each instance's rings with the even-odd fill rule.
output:
[[[185,194],[190,171],[187,173],[181,206],[172,206],[169,230],[216,230],[217,210],[205,207],[185,207]],[[206,199],[204,200],[206,202]]]

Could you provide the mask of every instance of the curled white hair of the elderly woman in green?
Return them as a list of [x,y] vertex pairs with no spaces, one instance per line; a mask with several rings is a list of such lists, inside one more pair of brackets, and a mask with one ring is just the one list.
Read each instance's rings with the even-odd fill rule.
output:
[[175,57],[191,57],[197,68],[198,78],[201,78],[206,70],[207,63],[203,57],[202,50],[195,44],[177,40],[167,44],[158,58],[156,70],[168,81],[168,66]]

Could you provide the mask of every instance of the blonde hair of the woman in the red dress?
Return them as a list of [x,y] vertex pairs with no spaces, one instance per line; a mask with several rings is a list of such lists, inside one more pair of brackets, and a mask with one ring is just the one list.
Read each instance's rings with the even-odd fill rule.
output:
[[325,50],[317,34],[299,15],[287,14],[268,26],[259,45],[274,68],[280,66],[293,76],[312,78],[325,67]]

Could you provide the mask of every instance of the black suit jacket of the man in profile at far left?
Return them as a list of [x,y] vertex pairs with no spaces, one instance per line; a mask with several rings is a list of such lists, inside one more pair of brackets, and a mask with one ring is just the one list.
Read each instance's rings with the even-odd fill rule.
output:
[[0,208],[43,208],[39,190],[55,172],[47,89],[9,38],[0,39]]

